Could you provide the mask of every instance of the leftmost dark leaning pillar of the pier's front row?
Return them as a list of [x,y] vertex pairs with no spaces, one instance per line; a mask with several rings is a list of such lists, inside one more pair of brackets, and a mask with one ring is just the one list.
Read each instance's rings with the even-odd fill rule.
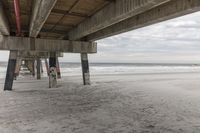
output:
[[17,51],[10,51],[4,90],[9,90],[9,91],[12,90],[16,60],[17,60]]

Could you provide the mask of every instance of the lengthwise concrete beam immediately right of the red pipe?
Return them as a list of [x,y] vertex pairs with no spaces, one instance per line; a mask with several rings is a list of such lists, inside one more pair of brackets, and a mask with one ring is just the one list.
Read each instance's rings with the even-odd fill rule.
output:
[[29,36],[37,37],[57,0],[34,0]]

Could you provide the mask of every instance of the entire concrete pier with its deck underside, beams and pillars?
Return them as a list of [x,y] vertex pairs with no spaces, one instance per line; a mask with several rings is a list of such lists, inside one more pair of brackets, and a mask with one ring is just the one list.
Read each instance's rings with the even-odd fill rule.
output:
[[41,59],[56,87],[62,53],[80,53],[89,85],[94,41],[199,10],[200,0],[1,0],[0,50],[10,51],[4,90],[12,90],[22,61],[40,79]]

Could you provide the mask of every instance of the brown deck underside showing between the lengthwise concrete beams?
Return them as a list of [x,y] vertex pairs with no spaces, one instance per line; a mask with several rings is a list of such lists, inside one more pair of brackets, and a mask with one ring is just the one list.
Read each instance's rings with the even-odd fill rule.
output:
[[[13,0],[2,0],[8,16],[12,34],[16,32]],[[95,14],[111,0],[58,0],[46,20],[39,36],[41,38],[63,38],[79,23]],[[33,0],[20,0],[21,26],[28,36]]]

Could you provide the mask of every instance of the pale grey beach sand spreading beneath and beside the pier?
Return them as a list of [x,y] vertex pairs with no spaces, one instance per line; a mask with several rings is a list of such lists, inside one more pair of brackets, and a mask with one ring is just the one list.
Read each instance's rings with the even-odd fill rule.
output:
[[[4,80],[0,81],[3,89]],[[199,133],[200,73],[27,76],[0,91],[0,133]]]

